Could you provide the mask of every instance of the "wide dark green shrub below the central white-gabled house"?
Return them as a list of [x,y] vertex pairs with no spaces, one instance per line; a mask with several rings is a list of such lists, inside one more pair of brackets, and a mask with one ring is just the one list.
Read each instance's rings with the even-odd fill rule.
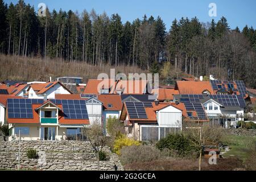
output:
[[156,147],[161,151],[164,150],[164,148],[176,151],[176,154],[179,156],[191,154],[199,155],[200,152],[200,146],[183,134],[170,134],[166,138],[160,139],[159,142],[156,143]]

